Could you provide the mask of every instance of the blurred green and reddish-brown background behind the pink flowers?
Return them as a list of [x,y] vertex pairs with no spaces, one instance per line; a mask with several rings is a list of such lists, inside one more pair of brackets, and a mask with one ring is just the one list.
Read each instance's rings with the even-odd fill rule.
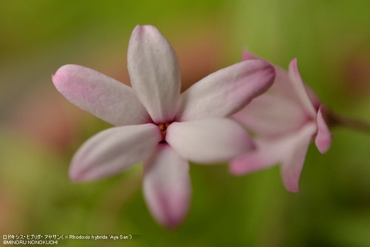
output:
[[73,184],[73,153],[109,124],[65,100],[51,74],[81,64],[129,84],[136,24],[174,46],[183,89],[250,51],[304,80],[337,113],[370,122],[369,0],[0,1],[0,234],[137,234],[63,246],[369,247],[370,135],[333,128],[326,155],[310,146],[300,192],[278,167],[233,177],[191,165],[190,212],[176,230],[143,201],[141,165]]

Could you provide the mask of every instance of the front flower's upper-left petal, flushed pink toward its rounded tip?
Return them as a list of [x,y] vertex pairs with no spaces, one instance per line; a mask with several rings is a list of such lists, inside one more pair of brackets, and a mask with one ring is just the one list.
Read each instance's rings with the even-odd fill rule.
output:
[[150,117],[132,88],[92,69],[68,64],[52,77],[70,102],[116,126],[149,123]]

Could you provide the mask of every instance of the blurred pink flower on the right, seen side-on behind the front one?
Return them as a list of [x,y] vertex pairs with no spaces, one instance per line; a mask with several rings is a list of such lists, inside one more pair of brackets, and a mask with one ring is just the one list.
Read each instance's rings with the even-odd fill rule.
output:
[[[243,53],[244,60],[254,58],[247,51]],[[281,163],[285,187],[298,192],[299,176],[312,137],[315,136],[322,154],[330,147],[326,108],[304,84],[295,58],[289,63],[288,72],[277,66],[275,71],[271,90],[233,115],[256,134],[257,148],[234,159],[230,171],[242,175]]]

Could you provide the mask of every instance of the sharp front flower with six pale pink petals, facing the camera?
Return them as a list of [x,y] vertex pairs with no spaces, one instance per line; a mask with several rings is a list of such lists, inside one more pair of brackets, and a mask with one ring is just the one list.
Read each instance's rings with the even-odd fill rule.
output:
[[253,148],[244,128],[226,117],[266,91],[275,70],[262,60],[242,61],[180,94],[172,46],[155,27],[139,25],[127,64],[132,88],[79,65],[64,65],[52,77],[69,101],[117,126],[82,145],[69,175],[94,180],[143,161],[147,206],[160,224],[175,227],[191,195],[188,161],[226,162]]

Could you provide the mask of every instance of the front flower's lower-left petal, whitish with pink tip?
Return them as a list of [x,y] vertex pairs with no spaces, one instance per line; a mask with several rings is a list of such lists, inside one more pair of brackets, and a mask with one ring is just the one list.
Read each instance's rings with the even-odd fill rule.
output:
[[155,124],[109,128],[87,140],[75,154],[69,175],[86,181],[107,177],[148,158],[162,139]]

